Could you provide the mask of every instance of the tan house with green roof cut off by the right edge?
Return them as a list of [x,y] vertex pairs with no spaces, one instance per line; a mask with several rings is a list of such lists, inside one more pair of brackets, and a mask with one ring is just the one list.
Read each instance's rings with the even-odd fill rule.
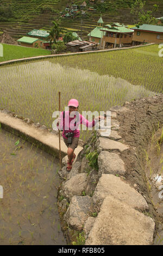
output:
[[163,26],[143,24],[132,28],[134,30],[133,45],[145,42],[163,42]]

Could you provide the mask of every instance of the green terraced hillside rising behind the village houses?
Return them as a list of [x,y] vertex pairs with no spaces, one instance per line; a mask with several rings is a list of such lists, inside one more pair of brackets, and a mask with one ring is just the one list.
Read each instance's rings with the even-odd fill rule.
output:
[[[84,0],[73,1],[73,4],[82,4]],[[130,7],[134,0],[95,0],[95,4],[87,3],[87,9],[92,6],[95,12],[90,12],[87,17],[81,15],[77,19],[64,18],[61,26],[68,30],[76,32],[81,31],[82,36],[86,39],[86,35],[97,26],[97,21],[102,13],[104,23],[123,22],[126,25],[135,25],[134,16],[130,14]],[[69,7],[72,1],[68,0],[0,0],[0,32],[5,31],[13,38],[20,38],[27,35],[32,29],[49,29],[52,26],[52,19],[58,19],[60,12],[64,11],[67,4]],[[153,4],[158,4],[159,9],[156,13],[157,17],[161,17],[163,13],[162,0],[146,1],[145,10],[152,10]],[[80,35],[81,36],[81,35]]]

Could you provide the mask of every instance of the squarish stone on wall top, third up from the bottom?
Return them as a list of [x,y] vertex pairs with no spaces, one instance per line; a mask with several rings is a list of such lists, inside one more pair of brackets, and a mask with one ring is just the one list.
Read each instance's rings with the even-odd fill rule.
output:
[[123,175],[126,172],[124,168],[124,162],[120,159],[120,156],[108,151],[102,151],[98,156],[99,174],[120,174]]

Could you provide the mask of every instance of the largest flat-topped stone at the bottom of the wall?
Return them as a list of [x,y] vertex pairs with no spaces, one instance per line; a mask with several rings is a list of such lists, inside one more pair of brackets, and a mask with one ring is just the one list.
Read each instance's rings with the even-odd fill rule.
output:
[[154,226],[151,217],[107,196],[85,245],[151,245]]

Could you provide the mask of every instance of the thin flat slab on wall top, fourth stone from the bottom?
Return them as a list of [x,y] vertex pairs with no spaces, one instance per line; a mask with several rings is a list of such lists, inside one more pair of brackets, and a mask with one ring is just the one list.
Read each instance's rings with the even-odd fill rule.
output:
[[98,151],[101,150],[117,150],[123,152],[124,150],[129,149],[128,145],[122,144],[121,142],[112,141],[112,139],[99,137],[96,142],[96,147]]

